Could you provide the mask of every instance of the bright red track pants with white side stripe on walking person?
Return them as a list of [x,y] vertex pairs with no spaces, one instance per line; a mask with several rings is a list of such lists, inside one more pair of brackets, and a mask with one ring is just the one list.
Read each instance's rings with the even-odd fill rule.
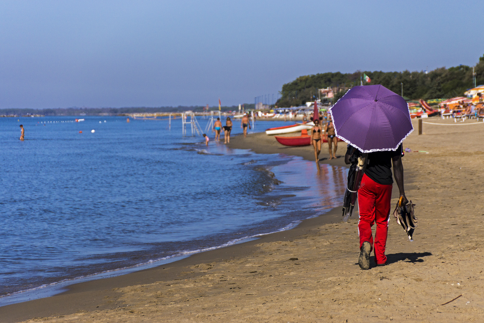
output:
[[[385,246],[387,244],[388,222],[390,221],[390,200],[392,199],[392,185],[381,185],[363,174],[362,183],[358,190],[358,209],[360,221],[358,234],[360,248],[363,242],[368,241],[375,250],[375,262],[385,263]],[[375,244],[371,227],[377,223]]]

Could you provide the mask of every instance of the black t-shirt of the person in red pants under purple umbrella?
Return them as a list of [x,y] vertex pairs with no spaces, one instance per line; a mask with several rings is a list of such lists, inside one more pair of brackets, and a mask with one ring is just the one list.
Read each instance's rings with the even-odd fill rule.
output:
[[[347,154],[350,154],[351,146],[348,145]],[[400,144],[393,151],[375,152],[368,154],[368,165],[366,165],[365,174],[375,182],[381,185],[392,185],[392,157],[403,156],[403,146]]]

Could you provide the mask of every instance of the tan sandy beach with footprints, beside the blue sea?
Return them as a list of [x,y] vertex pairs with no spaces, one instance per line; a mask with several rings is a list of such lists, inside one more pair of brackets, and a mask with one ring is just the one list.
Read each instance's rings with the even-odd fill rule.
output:
[[[357,210],[343,223],[336,208],[289,231],[1,307],[0,322],[480,322],[484,123],[427,121],[445,125],[424,123],[404,148],[428,154],[402,159],[419,226],[410,242],[391,216],[388,266],[360,269]],[[314,159],[311,146],[265,133],[230,147]],[[328,156],[323,144],[321,162],[344,165]],[[394,185],[393,205],[397,196]]]

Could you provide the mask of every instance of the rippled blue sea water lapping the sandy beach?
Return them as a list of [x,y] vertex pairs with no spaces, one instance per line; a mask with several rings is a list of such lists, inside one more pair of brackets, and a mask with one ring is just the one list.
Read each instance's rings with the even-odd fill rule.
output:
[[[229,149],[212,131],[206,147],[189,126],[182,135],[180,119],[169,128],[75,118],[0,118],[0,296],[28,291],[0,305],[287,230],[341,205],[345,168]],[[252,132],[286,124],[257,121]]]

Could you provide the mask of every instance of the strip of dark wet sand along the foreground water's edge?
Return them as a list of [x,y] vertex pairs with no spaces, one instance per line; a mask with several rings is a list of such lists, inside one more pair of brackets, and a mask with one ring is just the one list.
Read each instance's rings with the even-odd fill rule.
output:
[[[323,215],[304,219],[295,228],[286,231],[268,233],[255,240],[199,252],[181,260],[129,274],[72,284],[67,286],[68,291],[66,292],[0,307],[0,322],[21,322],[32,318],[68,315],[78,311],[102,310],[103,307],[98,306],[99,301],[96,299],[110,298],[110,303],[117,303],[118,293],[113,290],[136,284],[199,277],[204,273],[187,275],[184,271],[194,263],[212,263],[224,259],[246,257],[258,249],[256,246],[258,244],[291,240],[313,231],[315,227],[337,223],[341,220],[341,207],[335,207]],[[111,307],[108,304],[104,308]]]

